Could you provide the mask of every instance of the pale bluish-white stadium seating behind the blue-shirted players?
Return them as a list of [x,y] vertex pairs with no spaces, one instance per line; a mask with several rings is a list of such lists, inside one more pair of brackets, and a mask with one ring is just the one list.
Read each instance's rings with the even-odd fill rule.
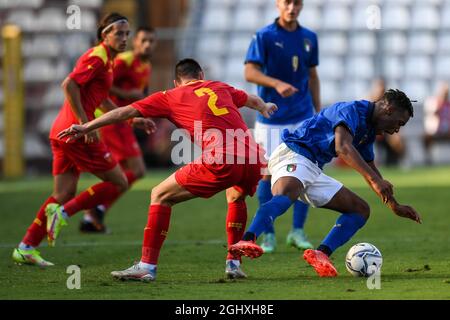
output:
[[[379,9],[381,28],[370,30],[367,24],[374,9]],[[202,12],[197,16],[201,22],[187,26],[186,34],[192,27],[196,37],[189,37],[191,51],[180,47],[183,56],[199,57],[215,70],[214,77],[247,88],[242,72],[246,50],[251,34],[277,17],[274,1],[196,1],[192,11]],[[319,36],[324,105],[365,97],[371,80],[383,77],[388,87],[404,89],[417,99],[416,109],[421,109],[435,83],[450,80],[450,1],[305,1],[299,20]],[[423,119],[417,115],[421,112],[416,112],[413,127],[421,130]],[[420,143],[412,144],[417,151]]]

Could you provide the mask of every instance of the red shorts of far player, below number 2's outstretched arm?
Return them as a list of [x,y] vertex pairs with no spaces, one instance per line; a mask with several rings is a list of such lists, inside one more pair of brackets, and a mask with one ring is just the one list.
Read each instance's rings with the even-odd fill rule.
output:
[[125,122],[112,124],[101,128],[100,133],[102,141],[118,162],[142,155],[133,128],[129,124]]

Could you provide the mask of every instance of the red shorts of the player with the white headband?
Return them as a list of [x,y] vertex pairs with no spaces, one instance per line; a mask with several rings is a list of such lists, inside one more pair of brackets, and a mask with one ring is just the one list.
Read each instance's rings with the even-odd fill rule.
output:
[[52,172],[54,176],[68,171],[75,171],[77,174],[80,172],[105,172],[117,165],[117,161],[102,142],[66,143],[50,139],[50,145],[53,153]]

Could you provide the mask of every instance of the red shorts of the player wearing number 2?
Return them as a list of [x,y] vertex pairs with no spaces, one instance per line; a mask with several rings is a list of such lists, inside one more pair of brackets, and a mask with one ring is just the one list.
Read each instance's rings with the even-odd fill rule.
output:
[[210,198],[230,187],[253,196],[261,179],[263,165],[189,163],[175,172],[178,184],[193,195]]

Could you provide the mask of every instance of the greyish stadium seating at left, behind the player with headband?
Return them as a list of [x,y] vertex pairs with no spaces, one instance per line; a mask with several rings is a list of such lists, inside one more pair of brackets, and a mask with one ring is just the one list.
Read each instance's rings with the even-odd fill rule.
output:
[[[67,7],[81,7],[81,30],[66,27]],[[103,0],[0,0],[0,27],[13,23],[22,29],[25,80],[25,157],[51,159],[47,136],[64,100],[61,81],[95,36]],[[0,42],[1,43],[1,42]],[[2,48],[0,44],[0,58]],[[0,80],[2,79],[0,67]],[[0,110],[3,94],[0,89]],[[3,156],[3,119],[0,114],[0,158]]]

